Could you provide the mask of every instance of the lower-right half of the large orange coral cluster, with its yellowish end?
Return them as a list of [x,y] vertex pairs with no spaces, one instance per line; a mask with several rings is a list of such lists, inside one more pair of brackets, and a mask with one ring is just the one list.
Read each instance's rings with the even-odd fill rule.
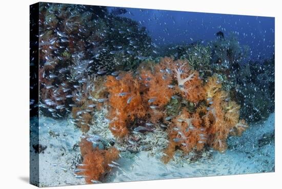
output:
[[239,121],[240,106],[230,101],[228,92],[221,90],[216,75],[208,78],[203,88],[206,102],[202,102],[194,113],[184,109],[170,123],[169,145],[163,157],[165,163],[173,157],[176,147],[188,154],[192,149],[200,150],[207,144],[224,152],[228,147],[228,136],[241,135],[248,127],[245,120]]

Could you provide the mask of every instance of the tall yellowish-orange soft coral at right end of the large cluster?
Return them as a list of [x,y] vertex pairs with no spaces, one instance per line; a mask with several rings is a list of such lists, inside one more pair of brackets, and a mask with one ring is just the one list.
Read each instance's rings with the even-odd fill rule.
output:
[[233,134],[240,135],[247,124],[238,123],[240,106],[230,101],[228,93],[221,90],[221,84],[216,75],[208,78],[204,88],[206,102],[209,104],[208,112],[203,117],[209,135],[208,144],[219,152],[224,152],[227,148],[226,139],[229,134],[232,134],[230,132],[236,130]]

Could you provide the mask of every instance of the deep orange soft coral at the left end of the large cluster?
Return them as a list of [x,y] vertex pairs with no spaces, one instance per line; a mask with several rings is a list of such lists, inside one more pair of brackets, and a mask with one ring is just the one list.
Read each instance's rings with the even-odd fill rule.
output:
[[140,94],[140,84],[131,73],[121,75],[122,79],[108,76],[105,86],[109,91],[111,106],[110,129],[115,136],[124,137],[128,133],[127,123],[144,117],[146,109]]

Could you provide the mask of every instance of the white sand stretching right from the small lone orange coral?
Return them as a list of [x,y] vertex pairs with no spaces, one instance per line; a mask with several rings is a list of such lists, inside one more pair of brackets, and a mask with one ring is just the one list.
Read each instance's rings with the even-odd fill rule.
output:
[[241,137],[231,137],[229,145],[237,145],[234,149],[220,154],[213,152],[211,159],[199,159],[195,163],[177,163],[170,161],[164,165],[160,156],[149,156],[140,152],[133,159],[122,158],[123,171],[116,170],[108,179],[110,182],[134,180],[153,180],[169,178],[187,178],[218,176],[230,174],[250,174],[274,172],[274,142],[258,147],[258,139],[265,133],[274,130],[274,113],[264,123],[257,123]]

